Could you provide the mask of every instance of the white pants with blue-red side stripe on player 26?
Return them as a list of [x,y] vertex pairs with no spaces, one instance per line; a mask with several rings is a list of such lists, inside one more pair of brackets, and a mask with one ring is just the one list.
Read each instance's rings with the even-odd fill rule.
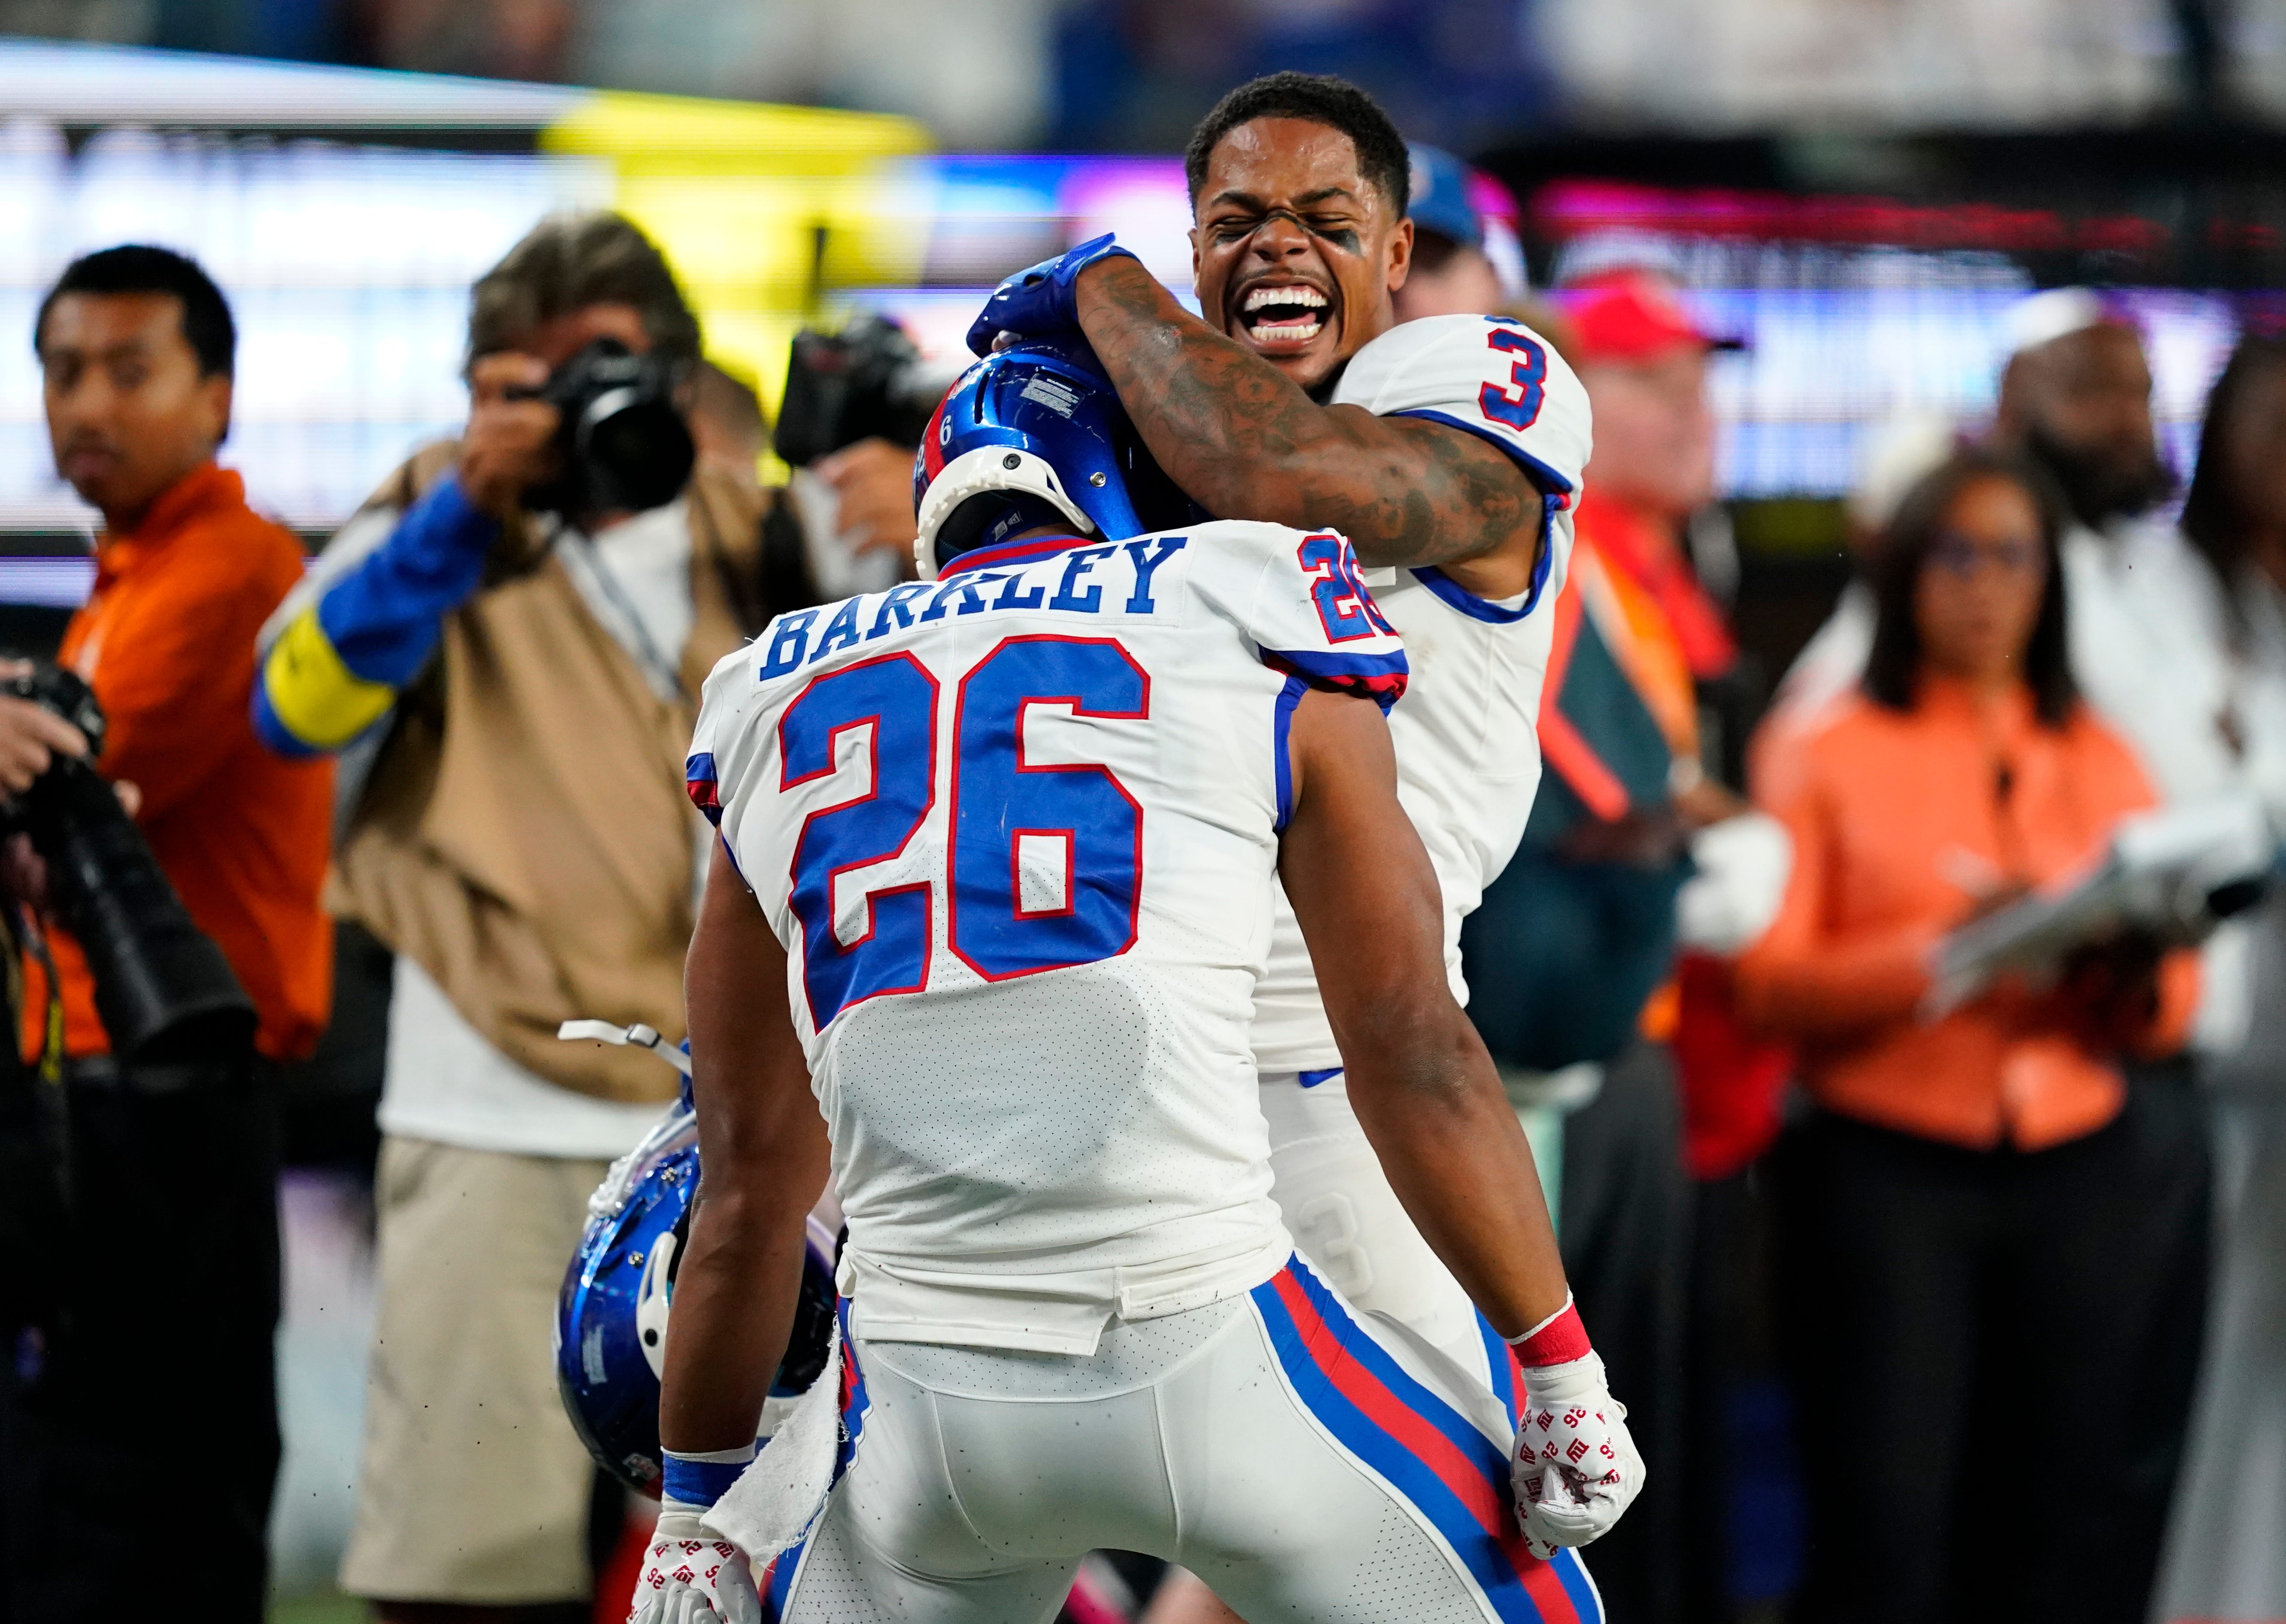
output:
[[777,1624],[1047,1624],[1081,1555],[1189,1567],[1253,1624],[1600,1624],[1534,1560],[1502,1402],[1298,1259],[1093,1357],[862,1338],[855,1457],[757,1583]]

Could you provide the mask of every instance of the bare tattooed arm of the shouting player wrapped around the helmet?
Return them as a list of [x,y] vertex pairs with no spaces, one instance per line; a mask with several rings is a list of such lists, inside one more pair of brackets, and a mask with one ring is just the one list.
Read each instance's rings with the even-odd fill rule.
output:
[[1184,311],[1132,258],[1088,267],[1079,322],[1143,443],[1209,512],[1340,530],[1367,564],[1452,564],[1518,548],[1529,569],[1541,493],[1474,434],[1319,407]]

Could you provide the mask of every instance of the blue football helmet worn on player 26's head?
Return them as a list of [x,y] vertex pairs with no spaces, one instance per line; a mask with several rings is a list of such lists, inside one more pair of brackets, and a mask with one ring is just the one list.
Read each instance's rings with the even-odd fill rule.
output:
[[1207,516],[1152,461],[1077,338],[1029,338],[962,372],[921,436],[912,503],[921,580],[1033,525],[1125,541]]

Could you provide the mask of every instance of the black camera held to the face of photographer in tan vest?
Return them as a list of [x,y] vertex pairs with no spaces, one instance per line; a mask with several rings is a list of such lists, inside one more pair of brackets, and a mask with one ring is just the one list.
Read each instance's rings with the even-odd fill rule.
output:
[[530,391],[562,413],[555,477],[526,507],[567,518],[665,507],[690,482],[697,448],[674,404],[674,361],[597,338]]

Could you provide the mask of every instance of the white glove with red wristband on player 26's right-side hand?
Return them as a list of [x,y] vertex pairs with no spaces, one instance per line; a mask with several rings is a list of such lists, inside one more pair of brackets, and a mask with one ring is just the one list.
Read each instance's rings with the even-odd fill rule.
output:
[[1509,1482],[1525,1546],[1545,1562],[1559,1546],[1609,1533],[1644,1492],[1644,1457],[1570,1297],[1513,1348],[1525,1370],[1525,1412]]

